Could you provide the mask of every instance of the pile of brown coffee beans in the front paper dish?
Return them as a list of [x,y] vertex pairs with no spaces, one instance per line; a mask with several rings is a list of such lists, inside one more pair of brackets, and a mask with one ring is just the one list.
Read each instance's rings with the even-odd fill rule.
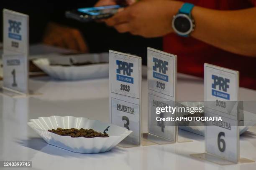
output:
[[84,137],[84,138],[95,138],[95,137],[101,137],[101,138],[106,138],[109,137],[107,133],[100,133],[97,131],[94,131],[92,129],[83,129],[81,128],[80,130],[71,128],[71,129],[62,129],[62,128],[57,128],[48,130],[48,132],[55,133],[57,135],[61,136],[71,136],[72,138],[78,138],[78,137]]

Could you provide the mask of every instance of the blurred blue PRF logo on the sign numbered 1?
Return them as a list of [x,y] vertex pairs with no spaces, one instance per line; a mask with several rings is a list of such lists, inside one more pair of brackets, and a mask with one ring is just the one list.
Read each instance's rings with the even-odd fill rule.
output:
[[21,40],[20,30],[21,30],[21,22],[15,20],[8,20],[9,27],[8,27],[8,37]]

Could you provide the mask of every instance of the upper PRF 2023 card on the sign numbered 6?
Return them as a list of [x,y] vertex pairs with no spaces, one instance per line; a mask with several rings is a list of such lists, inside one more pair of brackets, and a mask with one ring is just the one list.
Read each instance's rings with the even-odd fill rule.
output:
[[216,101],[207,102],[207,109],[237,119],[238,89],[238,71],[205,64],[205,101]]

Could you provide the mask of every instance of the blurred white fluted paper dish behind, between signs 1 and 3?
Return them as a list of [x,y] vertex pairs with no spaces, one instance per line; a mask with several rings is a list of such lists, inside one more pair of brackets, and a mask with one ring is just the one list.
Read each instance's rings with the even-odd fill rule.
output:
[[[70,65],[70,59],[75,63],[92,62],[93,64],[62,66]],[[108,53],[38,58],[32,60],[32,62],[49,76],[59,80],[85,80],[108,77]]]

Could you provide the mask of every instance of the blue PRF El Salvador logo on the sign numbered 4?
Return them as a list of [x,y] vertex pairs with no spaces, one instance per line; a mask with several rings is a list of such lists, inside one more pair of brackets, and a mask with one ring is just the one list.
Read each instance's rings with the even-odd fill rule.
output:
[[166,71],[168,70],[168,62],[153,57],[153,77],[168,82]]

